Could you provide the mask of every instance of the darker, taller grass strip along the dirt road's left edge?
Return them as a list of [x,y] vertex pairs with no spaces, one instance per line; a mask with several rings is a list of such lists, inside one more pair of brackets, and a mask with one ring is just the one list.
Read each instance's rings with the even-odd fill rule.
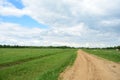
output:
[[50,71],[44,72],[37,80],[58,80],[60,73],[63,72],[68,65],[72,65],[75,58],[75,54],[67,57],[63,64]]

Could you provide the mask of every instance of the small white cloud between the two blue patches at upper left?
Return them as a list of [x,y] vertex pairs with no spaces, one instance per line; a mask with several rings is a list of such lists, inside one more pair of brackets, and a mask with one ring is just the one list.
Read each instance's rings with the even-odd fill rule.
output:
[[17,9],[13,4],[6,0],[0,0],[0,16],[23,16],[29,11],[24,9]]

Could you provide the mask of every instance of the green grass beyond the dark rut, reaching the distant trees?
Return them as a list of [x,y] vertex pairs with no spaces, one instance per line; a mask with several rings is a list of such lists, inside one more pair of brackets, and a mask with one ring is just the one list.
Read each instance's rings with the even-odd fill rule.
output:
[[0,48],[0,64],[15,62],[52,53],[60,53],[62,49],[34,49],[34,48]]

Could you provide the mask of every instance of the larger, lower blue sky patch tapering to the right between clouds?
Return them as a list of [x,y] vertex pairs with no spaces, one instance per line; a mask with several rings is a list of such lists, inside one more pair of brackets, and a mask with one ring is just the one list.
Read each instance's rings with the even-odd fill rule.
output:
[[3,22],[10,22],[20,24],[27,27],[39,27],[47,28],[46,25],[40,24],[29,16],[15,17],[15,16],[0,16],[0,20]]

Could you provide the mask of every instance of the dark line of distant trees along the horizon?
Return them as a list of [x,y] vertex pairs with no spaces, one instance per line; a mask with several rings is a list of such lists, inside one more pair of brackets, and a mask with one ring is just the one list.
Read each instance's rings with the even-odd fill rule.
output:
[[[0,48],[74,48],[75,47],[69,47],[69,46],[19,46],[19,45],[0,45]],[[114,47],[105,47],[105,48],[90,48],[90,47],[78,47],[76,49],[119,49],[120,46],[114,46]]]

